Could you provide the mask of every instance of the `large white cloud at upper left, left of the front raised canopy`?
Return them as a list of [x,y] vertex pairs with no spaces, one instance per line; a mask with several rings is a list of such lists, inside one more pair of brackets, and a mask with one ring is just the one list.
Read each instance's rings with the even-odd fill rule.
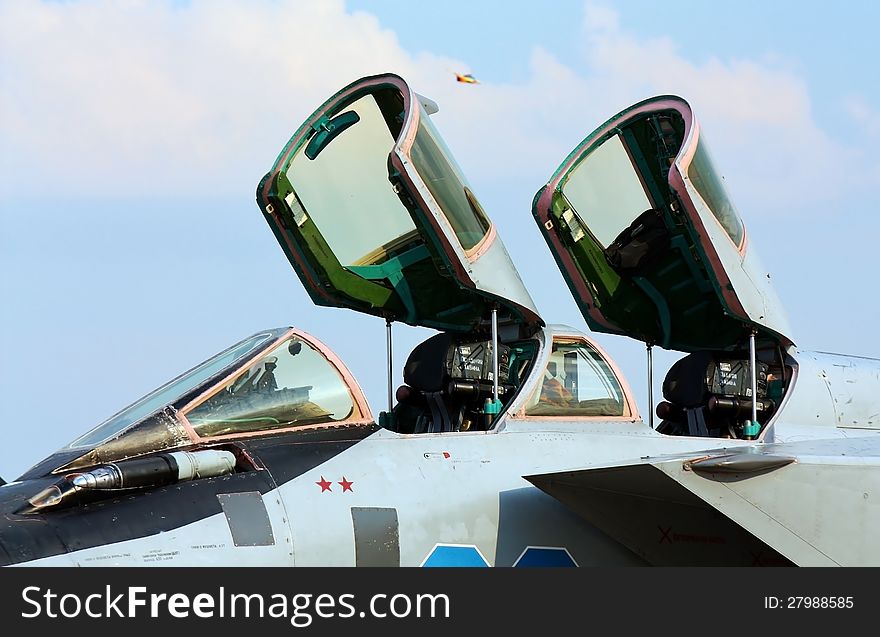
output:
[[327,95],[413,70],[340,1],[11,2],[0,25],[7,177],[74,192],[255,186]]

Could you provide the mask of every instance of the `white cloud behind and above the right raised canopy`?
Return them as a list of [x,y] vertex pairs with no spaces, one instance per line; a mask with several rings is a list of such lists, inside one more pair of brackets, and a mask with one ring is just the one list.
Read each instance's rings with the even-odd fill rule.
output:
[[[441,111],[454,120],[443,129],[450,145],[484,177],[534,182],[537,166],[546,180],[609,116],[667,93],[694,107],[741,208],[800,212],[805,202],[833,199],[868,176],[860,153],[816,123],[805,82],[784,61],[697,63],[668,37],[628,33],[616,12],[592,2],[585,4],[582,34],[580,60],[563,63],[538,48],[525,83],[479,86],[467,100],[460,92],[443,96]],[[489,161],[502,160],[494,170],[473,159],[487,148]]]

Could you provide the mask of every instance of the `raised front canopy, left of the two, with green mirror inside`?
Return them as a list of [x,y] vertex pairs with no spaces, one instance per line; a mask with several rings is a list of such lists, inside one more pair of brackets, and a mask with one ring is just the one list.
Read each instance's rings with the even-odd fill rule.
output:
[[319,305],[441,330],[542,324],[492,221],[396,75],[339,91],[297,130],[257,190]]

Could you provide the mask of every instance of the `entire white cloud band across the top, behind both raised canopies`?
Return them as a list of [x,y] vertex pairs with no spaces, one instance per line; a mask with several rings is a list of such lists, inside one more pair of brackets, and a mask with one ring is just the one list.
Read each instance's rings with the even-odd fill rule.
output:
[[795,206],[858,177],[854,152],[816,124],[790,71],[695,63],[670,38],[639,39],[591,2],[583,25],[581,60],[536,48],[525,82],[464,86],[448,71],[463,64],[404,50],[341,0],[6,2],[0,191],[253,188],[323,99],[384,71],[440,104],[438,126],[475,182],[515,178],[536,190],[596,125],[658,93],[694,105],[734,192],[749,200]]

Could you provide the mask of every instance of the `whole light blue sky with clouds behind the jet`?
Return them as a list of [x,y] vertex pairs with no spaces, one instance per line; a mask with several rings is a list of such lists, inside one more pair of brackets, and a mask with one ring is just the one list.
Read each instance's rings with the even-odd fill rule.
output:
[[[314,307],[254,203],[299,123],[383,71],[440,105],[435,123],[548,322],[585,327],[532,196],[607,117],[677,93],[797,344],[880,357],[878,14],[856,2],[0,0],[0,427],[15,450],[0,475],[265,327],[325,341],[384,407],[383,323]],[[395,328],[396,371],[428,335]],[[646,413],[642,347],[596,340]]]

